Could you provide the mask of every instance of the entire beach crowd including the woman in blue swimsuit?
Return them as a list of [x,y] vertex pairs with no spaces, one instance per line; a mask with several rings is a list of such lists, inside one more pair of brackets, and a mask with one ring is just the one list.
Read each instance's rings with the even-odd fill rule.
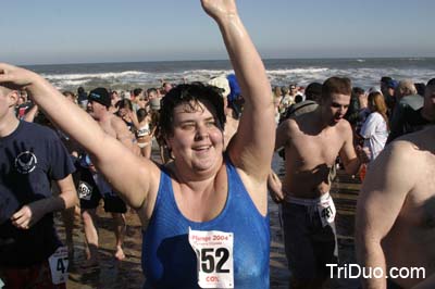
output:
[[[361,278],[363,287],[431,288],[435,78],[415,86],[382,77],[365,91],[334,76],[272,89],[235,1],[201,4],[235,75],[123,96],[102,87],[61,93],[0,64],[0,284],[65,288],[76,214],[82,265],[98,266],[102,199],[120,262],[127,208],[144,226],[144,288],[269,288],[269,190],[281,208],[290,288],[322,288],[339,264],[330,190],[344,167],[362,180],[359,264],[384,273],[418,266],[427,277]],[[285,160],[282,179],[271,169],[274,151]]]

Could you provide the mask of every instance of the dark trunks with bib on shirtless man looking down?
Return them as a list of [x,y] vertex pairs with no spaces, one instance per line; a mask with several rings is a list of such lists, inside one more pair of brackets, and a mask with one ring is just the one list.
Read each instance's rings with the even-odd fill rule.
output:
[[[321,210],[320,203],[332,203],[331,196],[315,200],[286,198],[282,217],[285,252],[291,276],[296,279],[327,278],[326,264],[338,264],[335,208]],[[325,214],[333,214],[328,217]],[[323,218],[323,221],[322,221]]]

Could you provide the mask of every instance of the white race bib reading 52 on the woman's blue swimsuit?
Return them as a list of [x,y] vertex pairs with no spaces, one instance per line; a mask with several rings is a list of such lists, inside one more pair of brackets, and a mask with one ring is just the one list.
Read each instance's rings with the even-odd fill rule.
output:
[[233,233],[192,230],[189,243],[197,255],[201,288],[234,288]]

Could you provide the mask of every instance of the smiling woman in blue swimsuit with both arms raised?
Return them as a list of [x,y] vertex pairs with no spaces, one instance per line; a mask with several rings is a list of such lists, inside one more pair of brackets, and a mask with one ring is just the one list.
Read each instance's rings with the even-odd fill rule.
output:
[[245,99],[224,153],[224,108],[214,87],[173,88],[161,129],[173,162],[159,166],[108,137],[91,117],[35,73],[0,64],[0,83],[26,86],[59,127],[92,155],[137,210],[147,288],[269,288],[266,179],[275,124],[263,63],[235,0],[201,0],[216,22]]

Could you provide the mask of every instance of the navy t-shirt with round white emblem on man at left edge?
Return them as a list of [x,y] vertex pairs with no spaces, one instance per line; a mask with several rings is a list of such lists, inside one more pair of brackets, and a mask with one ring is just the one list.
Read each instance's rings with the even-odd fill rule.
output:
[[51,197],[51,180],[65,178],[74,165],[51,129],[26,122],[0,138],[0,265],[28,266],[50,256],[61,244],[52,214],[28,230],[11,216],[24,204]]

